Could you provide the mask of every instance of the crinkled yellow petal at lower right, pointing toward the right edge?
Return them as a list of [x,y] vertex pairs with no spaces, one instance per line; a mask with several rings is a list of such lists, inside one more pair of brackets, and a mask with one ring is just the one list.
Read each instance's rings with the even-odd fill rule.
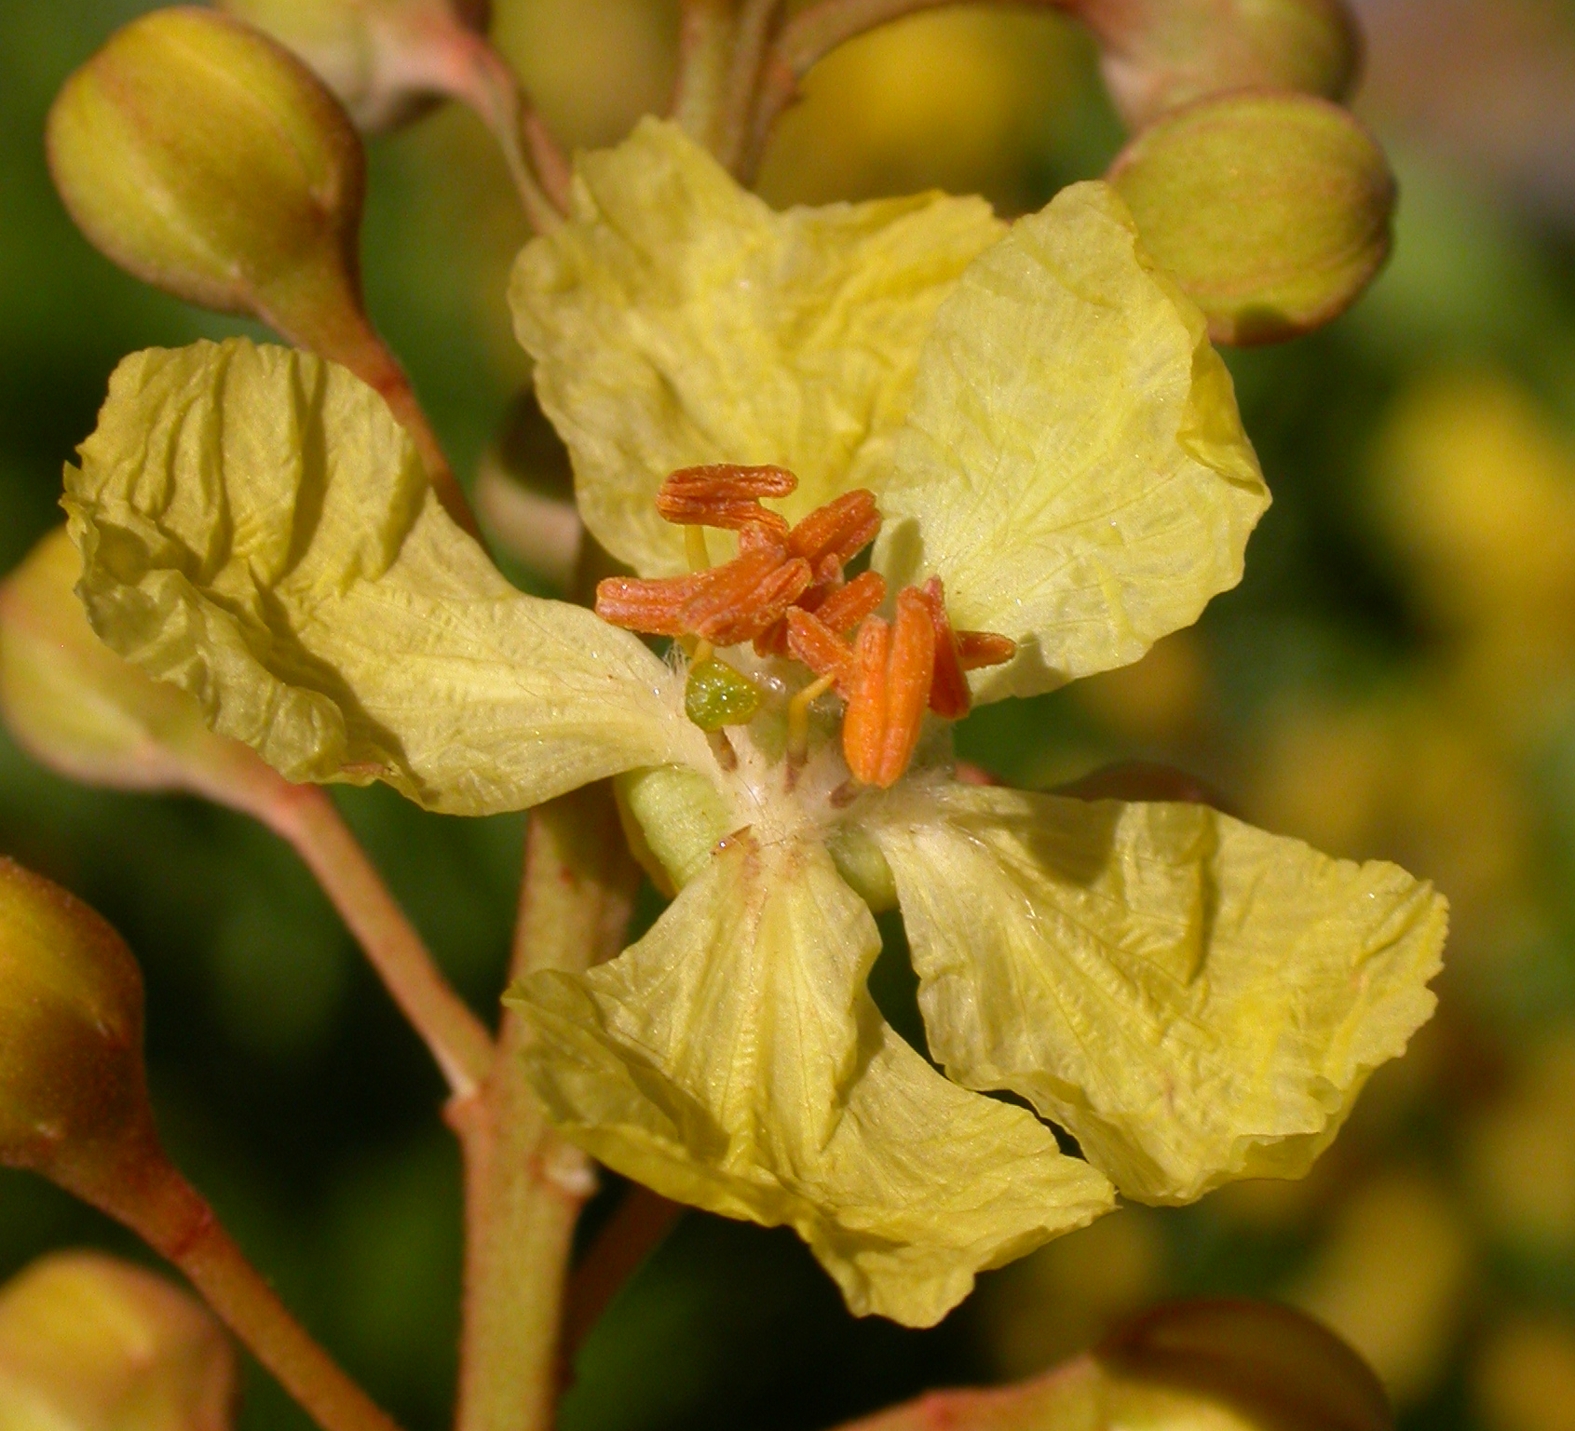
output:
[[1202,804],[907,792],[896,877],[931,1050],[1147,1203],[1298,1178],[1432,1015],[1446,905]]

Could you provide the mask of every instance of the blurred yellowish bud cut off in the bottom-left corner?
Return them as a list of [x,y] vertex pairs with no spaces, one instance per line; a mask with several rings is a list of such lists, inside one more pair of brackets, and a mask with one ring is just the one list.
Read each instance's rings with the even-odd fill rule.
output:
[[225,1431],[233,1403],[228,1340],[162,1277],[71,1252],[0,1289],[6,1431]]

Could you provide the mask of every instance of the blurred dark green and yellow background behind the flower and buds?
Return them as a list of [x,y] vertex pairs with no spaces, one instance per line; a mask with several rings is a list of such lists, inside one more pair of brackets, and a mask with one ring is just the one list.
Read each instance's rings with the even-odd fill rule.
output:
[[[243,327],[112,269],[49,186],[55,88],[145,8],[0,5],[0,568],[58,521],[60,466],[121,354]],[[1438,1019],[1304,1182],[1125,1209],[986,1277],[934,1332],[854,1322],[791,1236],[688,1215],[584,1344],[564,1431],[830,1425],[1032,1373],[1195,1292],[1323,1316],[1416,1431],[1575,1426],[1575,6],[1359,8],[1358,107],[1400,175],[1399,244],[1328,331],[1230,354],[1276,496],[1246,581],[1140,664],[991,707],[959,740],[1033,787],[1180,765],[1257,823],[1432,877],[1454,902]],[[663,0],[498,0],[501,46],[578,145],[662,105],[674,33]],[[1120,142],[1071,25],[958,8],[824,63],[762,189],[936,184],[1024,211]],[[373,146],[370,309],[465,474],[528,378],[502,302],[524,236],[468,115]],[[490,1008],[523,817],[386,792],[342,808]],[[411,1431],[444,1425],[460,1244],[441,1085],[295,858],[192,800],[69,786],[3,735],[0,850],[137,949],[161,1122],[243,1245]],[[904,1019],[901,962],[879,982]],[[139,1255],[0,1174],[0,1277],[71,1242]],[[254,1371],[243,1425],[304,1418]]]

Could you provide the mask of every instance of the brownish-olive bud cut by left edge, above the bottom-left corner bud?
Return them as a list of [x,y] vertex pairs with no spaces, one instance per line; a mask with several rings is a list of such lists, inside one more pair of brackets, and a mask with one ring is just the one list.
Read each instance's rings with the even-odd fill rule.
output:
[[77,1182],[150,1130],[137,962],[82,900],[0,858],[0,1163]]

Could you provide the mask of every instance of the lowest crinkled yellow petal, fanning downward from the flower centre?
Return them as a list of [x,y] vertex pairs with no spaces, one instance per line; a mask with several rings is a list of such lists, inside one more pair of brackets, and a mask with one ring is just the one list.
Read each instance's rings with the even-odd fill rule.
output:
[[880,938],[816,844],[736,836],[638,945],[510,995],[558,1126],[657,1192],[810,1244],[857,1313],[928,1326],[1109,1182],[880,1019]]

